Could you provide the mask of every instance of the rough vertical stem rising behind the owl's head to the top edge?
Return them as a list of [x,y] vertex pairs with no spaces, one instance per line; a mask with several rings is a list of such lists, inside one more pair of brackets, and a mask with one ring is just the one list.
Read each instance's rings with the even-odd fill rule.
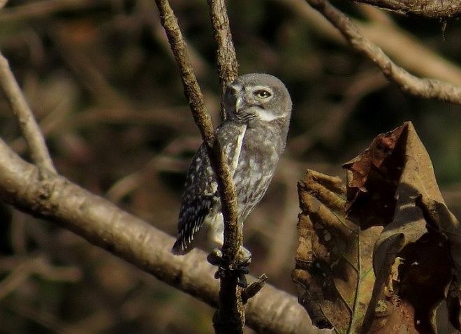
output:
[[[231,27],[227,16],[224,0],[207,0],[210,6],[210,17],[213,27],[214,41],[217,43],[217,65],[221,96],[226,92],[226,86],[238,75],[237,55],[232,42]],[[226,119],[224,101],[221,99],[221,119]]]

